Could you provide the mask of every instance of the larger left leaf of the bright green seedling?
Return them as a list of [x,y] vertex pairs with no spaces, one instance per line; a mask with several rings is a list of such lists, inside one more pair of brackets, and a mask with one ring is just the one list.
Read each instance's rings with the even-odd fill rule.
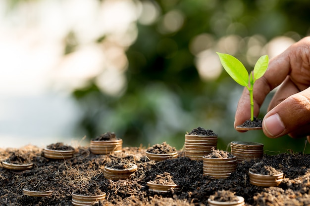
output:
[[249,83],[249,73],[244,65],[232,55],[216,53],[229,76],[240,85],[247,86]]

